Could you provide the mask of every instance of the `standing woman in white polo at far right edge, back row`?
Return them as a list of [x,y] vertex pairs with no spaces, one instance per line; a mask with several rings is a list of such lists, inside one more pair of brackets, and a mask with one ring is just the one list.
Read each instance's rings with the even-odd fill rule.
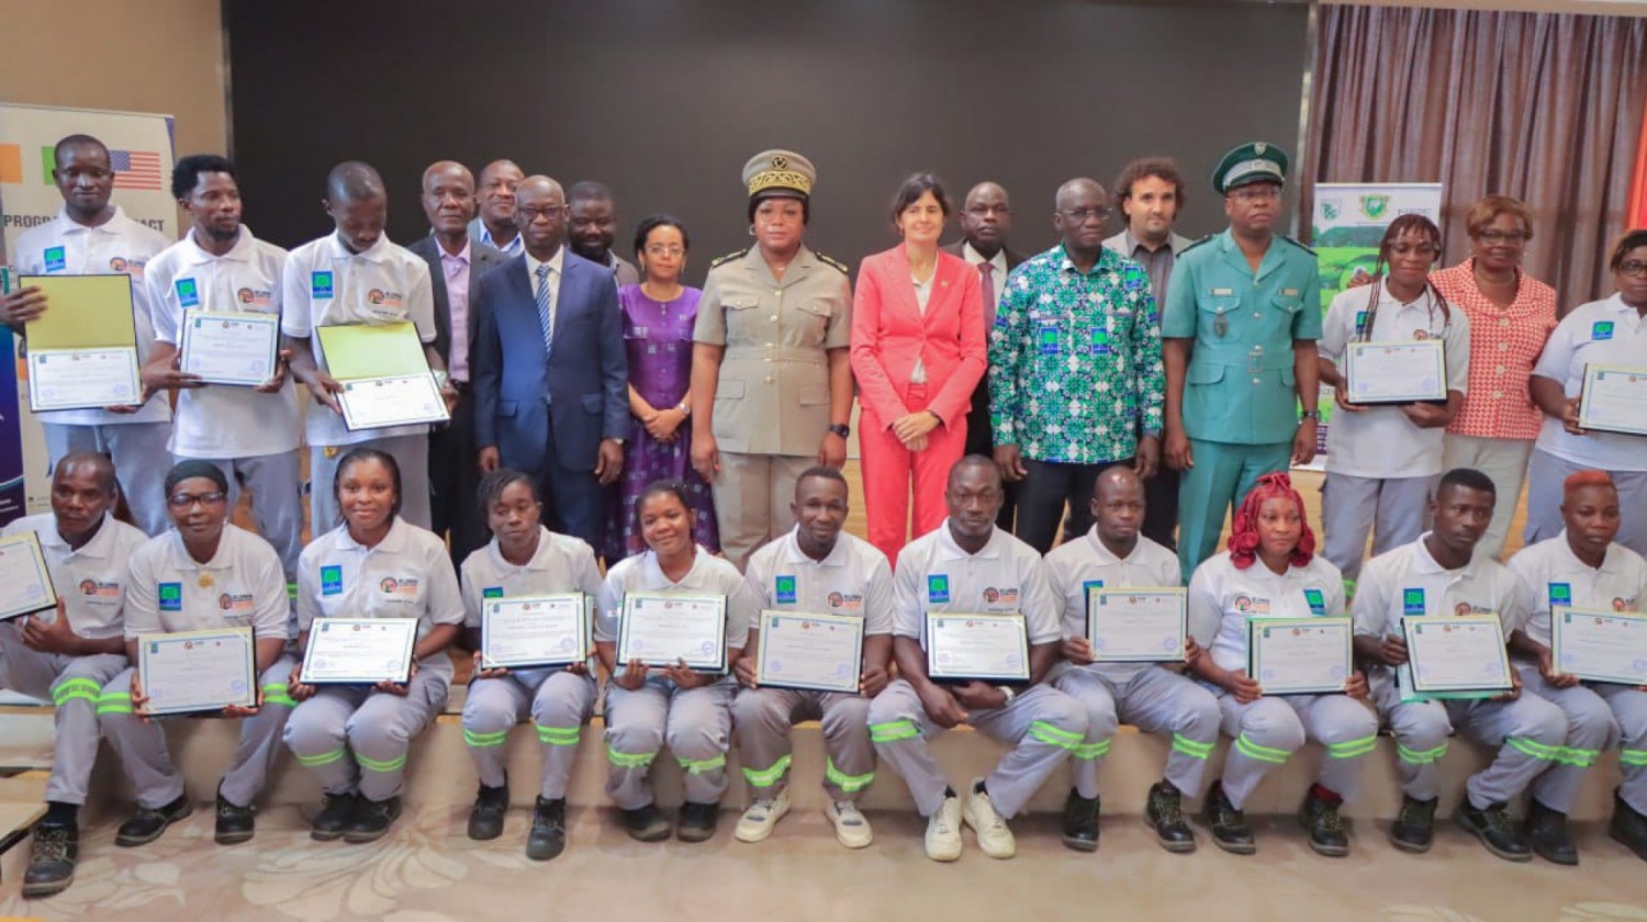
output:
[[1596,469],[1619,491],[1617,542],[1647,555],[1647,438],[1578,428],[1584,366],[1647,367],[1647,227],[1624,234],[1607,265],[1619,290],[1566,314],[1527,382],[1545,417],[1527,469],[1525,537],[1560,535],[1563,482]]

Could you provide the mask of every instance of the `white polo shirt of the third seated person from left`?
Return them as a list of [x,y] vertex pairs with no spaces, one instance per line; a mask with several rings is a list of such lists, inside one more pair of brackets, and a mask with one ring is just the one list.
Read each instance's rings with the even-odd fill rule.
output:
[[[422,640],[436,624],[463,624],[458,573],[446,542],[399,515],[377,547],[361,547],[338,525],[298,556],[298,631],[316,617],[415,617]],[[451,675],[451,659],[436,654],[418,668]]]

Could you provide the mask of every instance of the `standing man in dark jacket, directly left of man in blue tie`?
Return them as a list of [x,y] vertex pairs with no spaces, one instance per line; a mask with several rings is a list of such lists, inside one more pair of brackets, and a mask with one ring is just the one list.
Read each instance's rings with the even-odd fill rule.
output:
[[458,403],[451,421],[428,435],[430,515],[435,533],[450,537],[451,560],[461,566],[469,552],[486,543],[486,524],[474,504],[481,484],[474,461],[474,398],[469,392],[469,349],[481,328],[478,311],[481,275],[506,262],[501,252],[476,244],[464,230],[474,214],[474,176],[451,160],[423,171],[423,214],[430,234],[407,249],[428,263],[435,295],[435,351],[446,362]]

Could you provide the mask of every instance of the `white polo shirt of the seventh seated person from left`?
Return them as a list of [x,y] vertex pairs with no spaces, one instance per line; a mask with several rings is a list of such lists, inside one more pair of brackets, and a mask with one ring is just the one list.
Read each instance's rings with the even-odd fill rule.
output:
[[1046,563],[1033,547],[1000,529],[978,553],[949,533],[949,519],[904,545],[893,570],[893,634],[924,642],[926,616],[1021,614],[1031,644],[1056,644],[1059,604]]

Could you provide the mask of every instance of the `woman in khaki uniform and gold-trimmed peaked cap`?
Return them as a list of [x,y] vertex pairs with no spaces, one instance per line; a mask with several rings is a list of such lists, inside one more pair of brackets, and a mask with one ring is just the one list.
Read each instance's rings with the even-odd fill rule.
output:
[[794,525],[796,479],[847,463],[851,283],[802,242],[817,171],[768,150],[743,166],[754,245],[710,263],[692,339],[692,468],[713,486],[721,550]]

